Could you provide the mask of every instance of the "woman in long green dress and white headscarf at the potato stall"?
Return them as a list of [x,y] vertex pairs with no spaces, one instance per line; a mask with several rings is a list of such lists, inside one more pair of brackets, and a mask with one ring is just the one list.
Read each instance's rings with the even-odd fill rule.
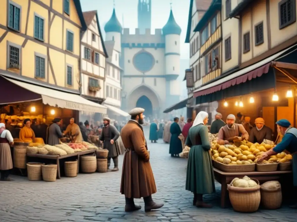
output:
[[207,112],[199,112],[193,126],[189,129],[186,146],[191,147],[189,152],[186,190],[194,194],[193,205],[196,207],[212,207],[203,202],[203,194],[215,192],[214,170],[211,164],[209,150],[211,145],[208,141]]

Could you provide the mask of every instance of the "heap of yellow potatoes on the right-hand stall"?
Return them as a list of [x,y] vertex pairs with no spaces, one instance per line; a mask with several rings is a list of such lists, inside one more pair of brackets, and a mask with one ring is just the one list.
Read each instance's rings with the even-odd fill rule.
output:
[[[269,145],[265,143],[251,143],[244,142],[245,145],[236,147],[235,145],[219,145],[217,141],[211,142],[211,158],[220,163],[226,165],[245,165],[255,163],[257,157],[269,149],[275,147],[275,145]],[[278,153],[271,156],[269,160],[264,160],[263,164],[268,163],[286,163],[292,160],[292,155],[285,152]]]

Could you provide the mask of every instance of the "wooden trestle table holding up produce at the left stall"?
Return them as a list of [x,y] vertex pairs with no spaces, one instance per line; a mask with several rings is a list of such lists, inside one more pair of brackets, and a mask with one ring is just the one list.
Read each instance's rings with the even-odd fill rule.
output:
[[[57,179],[61,179],[61,174],[60,174],[60,160],[61,159],[77,156],[77,173],[78,173],[79,163],[80,163],[80,156],[85,155],[85,154],[94,154],[94,155],[96,155],[95,152],[96,152],[96,149],[91,149],[91,150],[76,152],[76,153],[67,154],[67,155],[63,155],[63,156],[58,156],[58,155],[53,156],[53,155],[27,153],[27,159],[28,159],[28,157],[33,157],[33,158],[41,158],[41,159],[47,159],[47,160],[56,160],[56,164],[58,166],[58,168],[57,168]],[[27,160],[27,162],[28,162],[28,160]]]

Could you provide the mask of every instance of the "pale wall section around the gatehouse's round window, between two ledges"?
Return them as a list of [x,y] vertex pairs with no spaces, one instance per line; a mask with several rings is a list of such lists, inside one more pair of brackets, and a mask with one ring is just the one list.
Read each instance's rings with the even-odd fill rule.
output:
[[[135,54],[140,52],[140,48],[124,48],[124,73],[125,75],[143,75],[142,72],[138,71],[133,65],[133,57]],[[144,48],[147,52],[151,53],[155,59],[154,67],[146,72],[146,75],[164,75],[165,73],[165,49],[151,49]],[[157,62],[158,61],[158,62]]]

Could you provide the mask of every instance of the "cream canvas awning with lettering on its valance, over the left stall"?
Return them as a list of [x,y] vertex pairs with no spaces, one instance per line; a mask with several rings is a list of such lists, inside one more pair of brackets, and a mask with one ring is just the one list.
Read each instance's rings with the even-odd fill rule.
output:
[[106,114],[107,112],[107,107],[95,102],[91,102],[77,94],[48,89],[42,86],[36,86],[33,84],[9,79],[4,76],[3,78],[33,93],[40,94],[43,104],[48,104],[53,107],[58,106],[70,110],[99,112],[102,114]]

